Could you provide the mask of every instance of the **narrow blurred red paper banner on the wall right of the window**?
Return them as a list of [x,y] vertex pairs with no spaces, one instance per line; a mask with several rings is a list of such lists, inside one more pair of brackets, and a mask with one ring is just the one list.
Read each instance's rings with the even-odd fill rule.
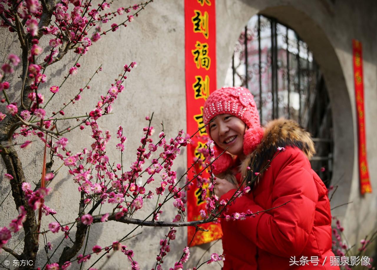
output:
[[363,83],[363,54],[361,42],[352,40],[353,66],[355,80],[355,97],[357,111],[357,135],[359,143],[359,177],[361,194],[372,193],[369,180],[368,160],[366,156],[365,111],[364,111],[364,83]]

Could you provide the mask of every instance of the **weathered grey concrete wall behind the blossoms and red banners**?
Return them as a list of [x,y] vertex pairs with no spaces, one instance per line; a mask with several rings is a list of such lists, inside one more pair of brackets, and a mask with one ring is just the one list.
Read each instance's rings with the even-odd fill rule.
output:
[[[129,3],[129,1],[124,1]],[[116,4],[115,4],[116,5]],[[126,4],[125,4],[126,5]],[[372,194],[360,196],[358,170],[357,170],[357,145],[356,145],[356,117],[355,99],[352,71],[352,38],[359,39],[363,44],[364,56],[364,85],[365,85],[365,110],[366,110],[366,136],[368,146],[369,174],[372,187],[377,187],[377,168],[374,166],[377,159],[377,138],[375,133],[375,119],[377,114],[377,58],[373,50],[377,38],[375,25],[377,25],[377,8],[373,1],[335,1],[328,0],[302,1],[302,0],[221,0],[216,2],[217,13],[217,77],[218,86],[224,83],[225,73],[231,61],[233,46],[242,27],[250,17],[261,12],[262,14],[276,17],[283,23],[291,26],[302,36],[308,46],[313,50],[314,58],[318,61],[325,76],[326,85],[332,102],[335,160],[334,181],[339,179],[339,189],[332,200],[332,206],[352,201],[353,203],[336,209],[335,214],[342,218],[345,225],[345,234],[349,243],[356,243],[377,227],[376,190]],[[115,21],[122,18],[117,17]],[[9,53],[20,53],[14,35],[0,29],[1,39],[6,42],[0,44],[0,60],[4,60]],[[46,40],[43,40],[46,42]],[[144,120],[146,115],[155,113],[153,122],[158,129],[159,123],[164,121],[164,128],[169,137],[185,128],[185,80],[184,80],[184,1],[156,0],[147,6],[145,11],[126,28],[120,28],[114,33],[106,35],[90,47],[87,55],[80,59],[81,68],[75,77],[70,77],[58,93],[58,99],[49,106],[60,106],[61,103],[71,99],[76,91],[87,82],[95,69],[102,64],[103,71],[94,77],[90,83],[91,88],[83,92],[83,99],[66,109],[66,116],[82,115],[83,112],[92,110],[110,87],[110,83],[121,72],[123,65],[130,61],[138,62],[138,67],[126,80],[126,91],[121,93],[113,108],[115,114],[100,118],[99,124],[103,130],[110,130],[113,135],[107,147],[107,154],[114,161],[119,161],[119,152],[115,149],[115,133],[119,125],[124,127],[128,138],[124,160],[130,163],[135,160],[136,148],[142,135],[142,128],[147,125]],[[106,42],[106,46],[103,44]],[[9,45],[10,44],[10,45]],[[48,85],[58,84],[63,80],[70,67],[67,59],[73,61],[76,55],[70,52],[64,61],[54,65],[46,72]],[[20,70],[17,70],[20,73]],[[16,74],[18,74],[16,72]],[[14,80],[15,82],[16,80]],[[12,83],[14,85],[14,83]],[[20,86],[19,83],[15,84]],[[46,86],[40,89],[49,97]],[[73,92],[72,92],[73,91]],[[10,93],[11,98],[16,97],[17,91]],[[56,105],[56,106],[55,106]],[[69,149],[77,152],[82,147],[90,147],[92,139],[89,129],[83,132],[68,134]],[[155,135],[156,137],[156,135]],[[23,151],[22,162],[27,170],[27,179],[37,181],[40,177],[41,155],[43,145],[36,141],[29,149]],[[176,161],[179,174],[184,172],[186,160],[185,152]],[[57,167],[60,163],[57,162]],[[1,165],[3,166],[3,165]],[[55,170],[56,168],[55,167]],[[5,173],[2,167],[1,173]],[[157,182],[157,181],[156,181]],[[152,185],[153,188],[156,187]],[[1,181],[0,200],[8,194],[9,184]],[[74,220],[77,215],[79,194],[77,185],[68,176],[65,168],[61,168],[58,176],[51,184],[52,194],[47,198],[46,204],[58,211],[61,223]],[[154,202],[151,202],[152,205]],[[147,205],[146,205],[147,206]],[[166,209],[162,220],[172,220],[173,208]],[[5,226],[15,217],[14,202],[8,197],[0,208],[0,225]],[[145,212],[142,212],[145,213]],[[138,217],[141,217],[139,215]],[[52,222],[51,217],[43,217],[42,228],[47,228]],[[101,246],[111,244],[109,241],[119,239],[126,235],[132,225],[95,224],[90,234],[89,247],[94,244]],[[167,229],[144,228],[136,230],[132,235],[143,231],[126,245],[135,251],[135,260],[143,267],[154,267],[155,257],[158,254],[158,242],[164,237]],[[186,230],[179,229],[177,239],[172,241],[172,250],[180,251],[186,245]],[[72,233],[71,235],[74,235]],[[23,236],[22,233],[20,237]],[[60,242],[60,236],[49,235],[48,240],[55,246]],[[180,240],[179,240],[180,239]],[[182,241],[182,239],[184,241]],[[9,246],[17,244],[17,239],[12,240]],[[65,240],[64,245],[69,245]],[[189,266],[194,266],[202,253],[207,249],[206,256],[212,252],[221,253],[221,241],[214,246],[212,243],[192,249],[192,258]],[[136,248],[135,248],[136,247]],[[20,247],[16,250],[20,251]],[[43,247],[40,247],[43,254]],[[129,268],[126,256],[120,252],[115,253],[104,269]],[[172,267],[179,259],[179,252],[169,254],[165,260],[166,267]],[[0,259],[4,258],[4,253]],[[93,259],[96,256],[93,256]],[[93,259],[90,261],[93,262]],[[55,255],[52,261],[57,260]],[[38,265],[44,264],[44,255],[41,255]],[[89,267],[90,264],[86,266]],[[98,264],[98,266],[100,266]],[[165,267],[165,268],[166,268]],[[75,265],[76,268],[76,265]],[[203,267],[204,268],[204,267]],[[219,268],[215,265],[215,268]]]

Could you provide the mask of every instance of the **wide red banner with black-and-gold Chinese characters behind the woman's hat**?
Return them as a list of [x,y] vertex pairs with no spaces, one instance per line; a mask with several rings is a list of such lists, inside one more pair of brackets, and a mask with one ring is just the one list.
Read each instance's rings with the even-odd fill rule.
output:
[[[185,73],[187,133],[192,135],[204,126],[203,105],[209,94],[216,90],[215,0],[185,0]],[[187,167],[190,167],[198,158],[205,162],[201,149],[205,146],[204,138],[208,137],[208,134],[203,128],[197,135],[193,137],[193,143],[187,146]],[[202,165],[205,164],[197,162],[195,168],[189,171],[190,180],[193,179],[195,173],[203,170]],[[208,178],[208,172],[204,171],[201,177]],[[188,221],[201,220],[199,211],[205,206],[202,188],[198,188],[196,184],[195,179],[187,191]],[[190,243],[192,240],[191,246],[208,243],[222,237],[220,224],[207,223],[200,227],[208,232],[198,231],[195,234],[194,227],[187,229],[187,241]]]

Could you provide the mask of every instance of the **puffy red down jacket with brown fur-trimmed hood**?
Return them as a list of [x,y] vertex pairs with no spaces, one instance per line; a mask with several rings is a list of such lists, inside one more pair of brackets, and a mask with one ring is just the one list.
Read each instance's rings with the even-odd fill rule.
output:
[[[308,160],[310,149],[314,148],[306,144],[308,138],[301,138],[308,135],[306,132],[299,134],[300,141],[289,140],[290,136],[287,140],[284,130],[292,130],[290,123],[276,120],[271,124],[265,130],[261,145],[250,155],[249,161],[242,164],[242,167],[247,166],[255,154],[266,158],[268,151],[274,149],[271,158],[276,156],[271,166],[246,196],[228,206],[226,214],[248,209],[256,213],[282,206],[245,220],[221,219],[224,270],[339,269],[330,265],[334,253],[327,190]],[[287,124],[288,127],[284,126]],[[278,136],[271,136],[271,132],[278,132]],[[276,146],[285,146],[286,150],[276,152]],[[235,191],[228,191],[221,199],[230,199]],[[306,260],[308,264],[304,263]]]

